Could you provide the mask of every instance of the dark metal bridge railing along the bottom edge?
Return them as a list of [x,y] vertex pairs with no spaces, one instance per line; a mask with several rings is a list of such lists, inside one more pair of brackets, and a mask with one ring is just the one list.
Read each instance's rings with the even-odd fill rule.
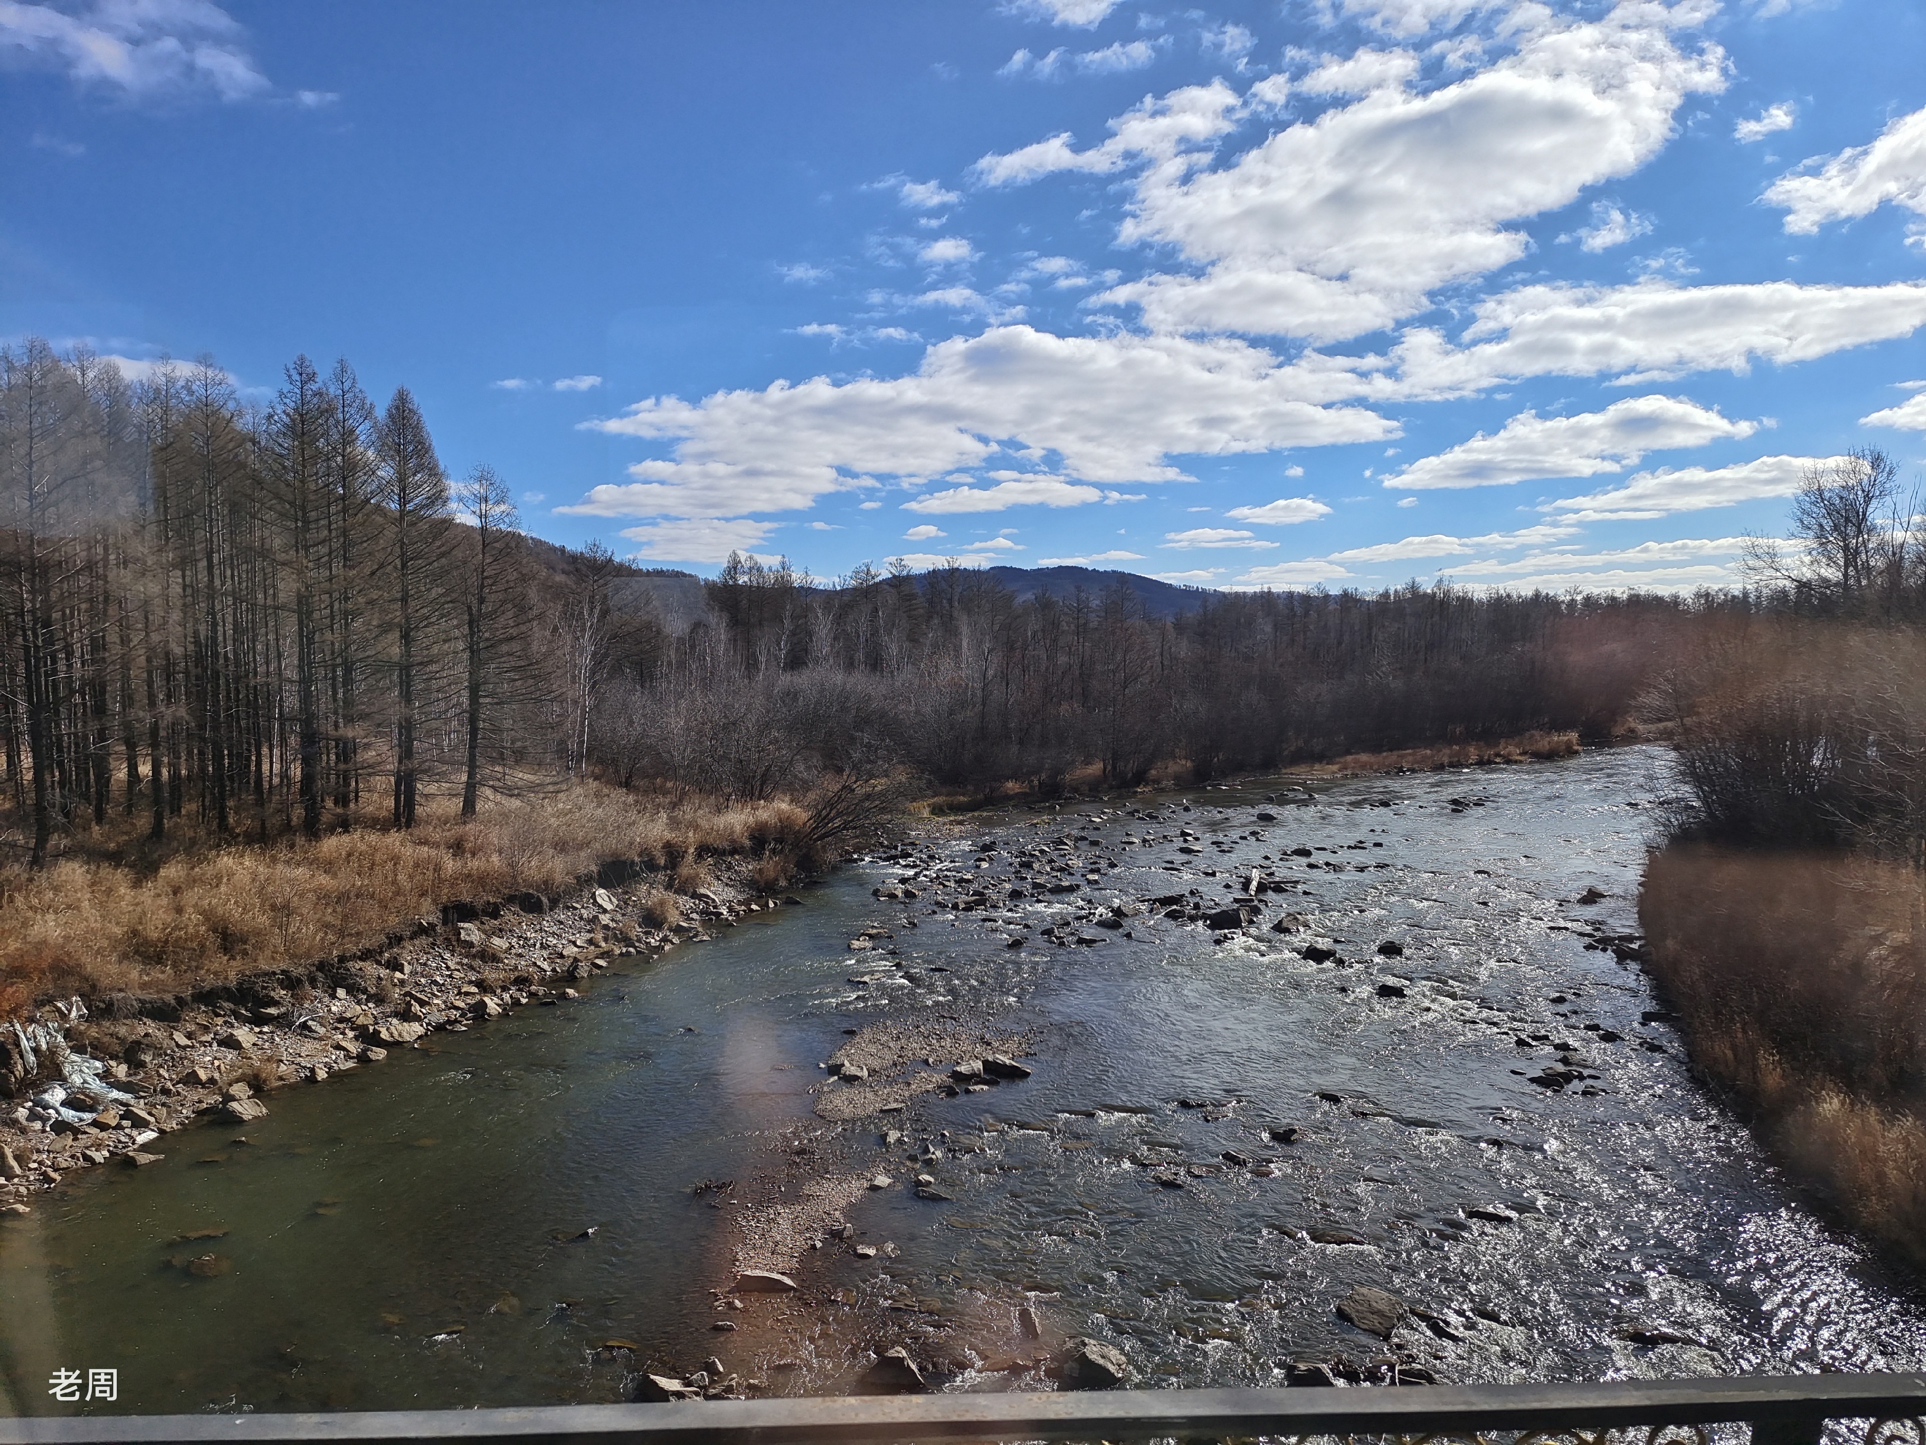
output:
[[[1828,1432],[1828,1422],[1841,1422]],[[1853,1422],[1851,1426],[1843,1422]],[[512,1445],[846,1445],[867,1441],[1138,1441],[1373,1437],[1410,1443],[1710,1445],[1749,1426],[1753,1445],[1926,1445],[1926,1376],[1626,1379],[1597,1385],[1410,1389],[1119,1389],[1034,1395],[564,1405],[524,1410],[347,1414],[31,1416],[0,1420],[0,1445],[283,1445],[458,1439]],[[1626,1439],[1620,1435],[1620,1439]],[[1616,1445],[1616,1443],[1614,1443]]]

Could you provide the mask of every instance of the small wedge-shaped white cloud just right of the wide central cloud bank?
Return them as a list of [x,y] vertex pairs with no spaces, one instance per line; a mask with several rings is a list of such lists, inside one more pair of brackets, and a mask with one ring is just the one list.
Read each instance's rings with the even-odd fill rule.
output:
[[1383,486],[1402,491],[1495,487],[1556,476],[1622,472],[1649,451],[1703,447],[1749,437],[1758,422],[1730,422],[1683,397],[1626,397],[1602,412],[1520,412],[1497,435],[1479,432],[1435,457],[1421,457]]

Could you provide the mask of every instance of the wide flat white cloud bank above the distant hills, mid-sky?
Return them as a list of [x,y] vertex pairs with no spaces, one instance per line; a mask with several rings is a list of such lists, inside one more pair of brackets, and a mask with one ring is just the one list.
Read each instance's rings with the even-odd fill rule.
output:
[[[903,378],[776,381],[699,403],[651,397],[584,426],[668,439],[674,460],[595,487],[591,514],[742,516],[809,507],[861,478],[934,478],[992,455],[1055,453],[1063,486],[1181,482],[1183,455],[1383,441],[1375,412],[1304,401],[1308,380],[1240,341],[1059,337],[1003,326],[930,347]],[[1015,480],[1019,474],[994,480]]]

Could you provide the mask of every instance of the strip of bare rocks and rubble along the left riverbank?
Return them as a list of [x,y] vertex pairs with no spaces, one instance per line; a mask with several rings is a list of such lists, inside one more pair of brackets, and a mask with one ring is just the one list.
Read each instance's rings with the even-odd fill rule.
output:
[[[664,886],[678,875],[691,892]],[[160,1164],[168,1135],[196,1121],[245,1129],[283,1087],[377,1065],[435,1031],[570,1002],[614,958],[780,906],[747,859],[686,859],[676,873],[605,861],[568,896],[443,904],[376,946],[304,967],[52,1006],[42,1027],[0,1037],[0,1062],[35,1079],[0,1119],[0,1214],[31,1212],[33,1195],[73,1169]],[[69,1050],[79,1067],[64,1069]]]

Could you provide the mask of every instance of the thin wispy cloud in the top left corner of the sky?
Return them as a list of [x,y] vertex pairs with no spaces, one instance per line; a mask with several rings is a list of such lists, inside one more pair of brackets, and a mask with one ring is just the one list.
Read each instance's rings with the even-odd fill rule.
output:
[[0,52],[129,100],[193,91],[245,100],[270,89],[233,15],[208,0],[94,0],[77,13],[0,0]]

